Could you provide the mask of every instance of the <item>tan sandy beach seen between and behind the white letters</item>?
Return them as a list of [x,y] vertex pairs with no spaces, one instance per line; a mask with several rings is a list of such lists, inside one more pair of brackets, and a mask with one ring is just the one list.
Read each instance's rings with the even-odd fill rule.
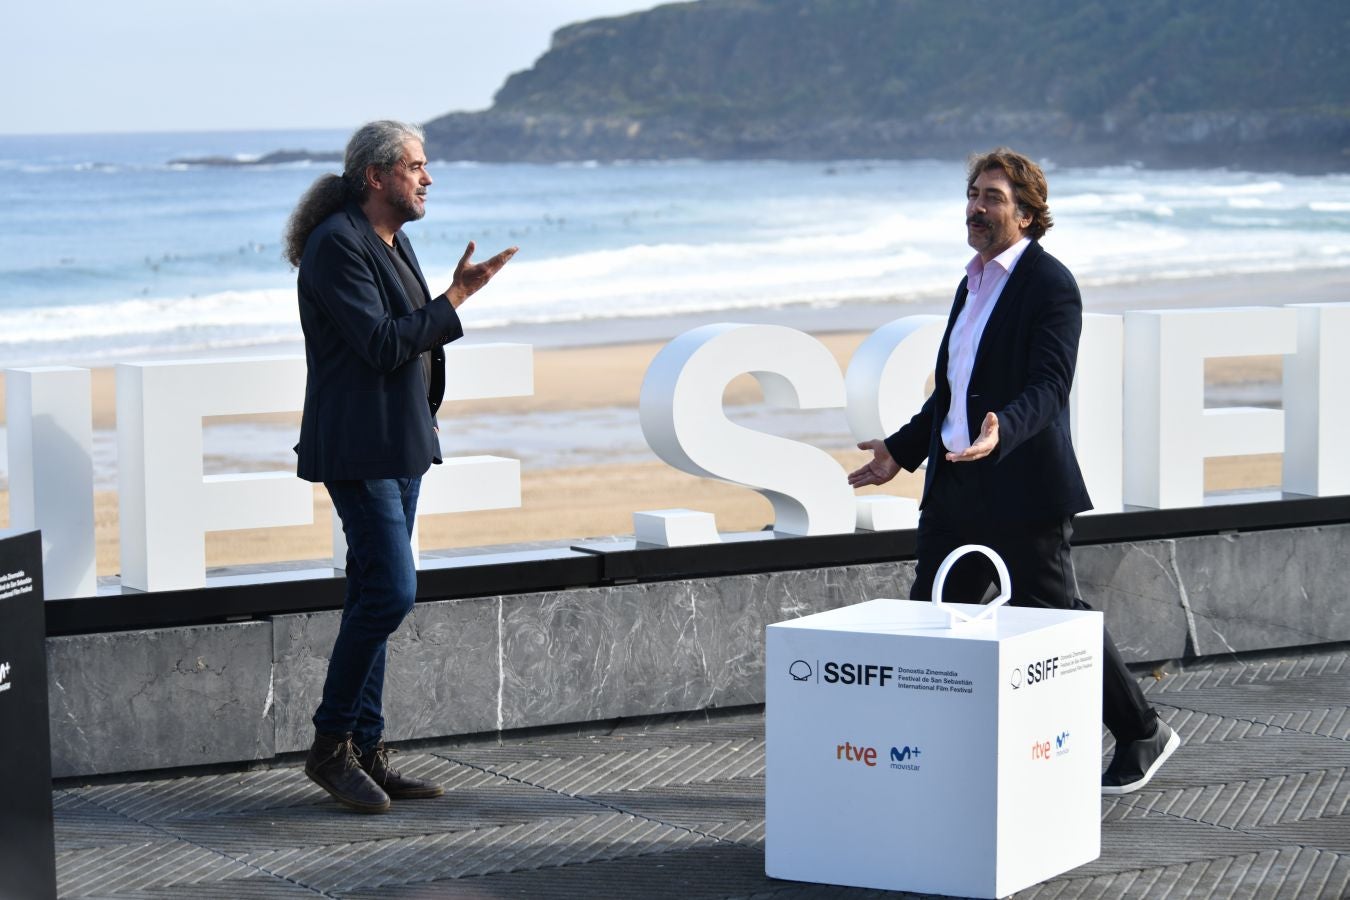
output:
[[[1197,289],[1185,282],[1179,290],[1166,283],[1138,286],[1129,308],[1202,306]],[[1212,287],[1212,286],[1211,286]],[[1239,297],[1227,296],[1228,304],[1311,302],[1327,297],[1324,277],[1295,279],[1269,277],[1246,279]],[[1087,293],[1087,291],[1085,291]],[[1115,312],[1123,304],[1120,289],[1104,290],[1104,306]],[[1280,300],[1273,300],[1280,297]],[[1092,309],[1091,294],[1088,308]],[[894,314],[913,313],[903,309]],[[932,312],[932,310],[923,310]],[[845,317],[846,318],[846,317]],[[672,332],[672,336],[679,332]],[[857,345],[869,331],[813,332],[829,347],[841,367],[848,364]],[[602,345],[536,348],[532,397],[473,401],[455,403],[441,417],[443,428],[452,429],[455,416],[477,413],[525,414],[566,413],[595,407],[630,409],[637,417],[637,399],[643,375],[666,341],[606,343]],[[1214,359],[1206,366],[1207,386],[1251,385],[1274,390],[1280,381],[1278,356]],[[115,426],[115,370],[93,370],[93,417],[96,429]],[[744,375],[728,389],[729,405],[755,403],[761,399],[756,382]],[[275,421],[275,417],[271,417]],[[298,422],[298,416],[294,417]],[[852,449],[846,434],[834,447],[822,447],[834,456],[842,472],[864,460]],[[1272,487],[1280,479],[1280,456],[1219,457],[1206,466],[1206,490]],[[759,494],[730,484],[694,478],[674,470],[655,455],[649,461],[621,461],[585,467],[548,466],[548,460],[524,459],[521,475],[522,506],[470,514],[433,515],[421,519],[424,551],[489,546],[528,541],[567,541],[572,538],[629,534],[632,513],[637,510],[690,507],[711,511],[722,530],[755,530],[772,521],[770,503]],[[919,475],[902,474],[879,490],[915,497]],[[284,560],[327,559],[329,548],[329,503],[321,486],[315,488],[315,524],[308,526],[217,532],[208,536],[208,565],[234,565]],[[0,501],[0,526],[8,525],[8,498]],[[117,497],[116,491],[96,495],[96,537],[99,573],[119,571]]]

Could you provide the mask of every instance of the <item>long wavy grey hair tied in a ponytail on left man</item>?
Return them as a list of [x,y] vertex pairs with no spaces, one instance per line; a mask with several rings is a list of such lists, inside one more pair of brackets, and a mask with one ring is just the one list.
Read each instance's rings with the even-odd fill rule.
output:
[[366,198],[366,169],[375,166],[379,171],[392,171],[402,162],[404,144],[409,140],[424,143],[425,136],[418,125],[406,121],[381,119],[356,130],[347,142],[343,174],[320,175],[286,221],[284,255],[292,266],[300,266],[305,243],[319,223],[342,209],[348,200],[360,202]]

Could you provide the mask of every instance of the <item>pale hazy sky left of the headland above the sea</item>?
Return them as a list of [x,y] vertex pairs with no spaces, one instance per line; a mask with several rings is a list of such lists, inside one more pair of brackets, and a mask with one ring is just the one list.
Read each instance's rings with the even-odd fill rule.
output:
[[482,109],[563,24],[659,0],[5,4],[0,134],[347,128]]

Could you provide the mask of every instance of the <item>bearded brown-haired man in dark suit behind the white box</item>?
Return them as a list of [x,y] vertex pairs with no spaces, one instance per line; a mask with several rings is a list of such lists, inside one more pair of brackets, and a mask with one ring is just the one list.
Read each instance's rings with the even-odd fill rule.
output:
[[[1040,166],[1007,148],[972,158],[967,242],[976,255],[956,290],[934,390],[896,433],[859,444],[872,460],[849,474],[882,484],[927,461],[910,598],[932,598],[942,560],[983,544],[1007,563],[1011,603],[1088,606],[1077,595],[1069,537],[1092,507],[1069,440],[1069,387],[1083,329],[1073,275],[1038,243],[1053,224]],[[983,560],[952,568],[949,596],[981,598],[994,582]],[[1181,738],[1143,699],[1106,634],[1103,718],[1116,750],[1103,793],[1138,791]]]

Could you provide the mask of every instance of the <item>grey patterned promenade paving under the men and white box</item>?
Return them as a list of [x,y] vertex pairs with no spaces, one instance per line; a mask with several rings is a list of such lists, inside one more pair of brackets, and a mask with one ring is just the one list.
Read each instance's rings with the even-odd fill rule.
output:
[[[1015,896],[1350,896],[1350,645],[1138,675],[1184,746],[1103,799],[1099,860]],[[759,708],[404,748],[396,765],[446,795],[377,816],[286,762],[58,783],[59,895],[915,896],[765,877]]]

